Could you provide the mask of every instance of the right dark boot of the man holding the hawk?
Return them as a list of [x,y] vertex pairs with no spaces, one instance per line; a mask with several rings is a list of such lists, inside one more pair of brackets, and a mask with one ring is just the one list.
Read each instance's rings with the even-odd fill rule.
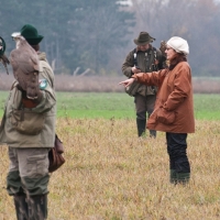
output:
[[47,218],[47,194],[29,197],[28,204],[30,220],[45,220]]

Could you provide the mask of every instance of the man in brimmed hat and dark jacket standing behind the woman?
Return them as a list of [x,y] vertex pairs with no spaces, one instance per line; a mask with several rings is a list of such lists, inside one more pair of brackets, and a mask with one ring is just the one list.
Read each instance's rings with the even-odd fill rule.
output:
[[[141,32],[138,38],[134,38],[136,47],[132,50],[122,65],[122,73],[130,78],[133,74],[151,73],[164,67],[166,59],[160,50],[152,46],[155,41],[147,32]],[[146,128],[146,113],[147,118],[154,110],[156,100],[156,87],[141,85],[134,82],[131,87],[127,88],[127,92],[134,97],[136,109],[136,127],[138,134],[142,136],[145,134]],[[156,138],[156,131],[150,130],[150,136]]]

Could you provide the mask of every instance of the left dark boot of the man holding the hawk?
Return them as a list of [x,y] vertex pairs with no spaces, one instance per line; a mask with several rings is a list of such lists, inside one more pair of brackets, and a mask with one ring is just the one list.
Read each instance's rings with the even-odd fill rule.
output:
[[18,220],[29,220],[29,208],[25,194],[16,194],[13,196]]

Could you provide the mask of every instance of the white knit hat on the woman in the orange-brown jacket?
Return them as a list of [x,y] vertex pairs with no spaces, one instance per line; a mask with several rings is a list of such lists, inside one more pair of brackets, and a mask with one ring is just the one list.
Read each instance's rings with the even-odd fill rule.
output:
[[187,41],[185,41],[184,38],[179,36],[170,37],[166,44],[170,46],[177,53],[184,53],[185,55],[189,54],[189,45]]

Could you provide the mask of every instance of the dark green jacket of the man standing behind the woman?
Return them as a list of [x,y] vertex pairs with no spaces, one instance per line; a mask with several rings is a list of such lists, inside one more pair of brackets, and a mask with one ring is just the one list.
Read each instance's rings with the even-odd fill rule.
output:
[[[145,52],[134,48],[127,55],[127,58],[122,64],[122,73],[128,78],[133,75],[131,69],[135,65],[134,53],[136,53],[136,63],[141,69],[141,73],[151,73],[164,68],[165,57],[162,55],[161,51],[156,50],[150,44],[150,48]],[[130,96],[135,96],[136,94],[148,96],[155,95],[156,90],[156,87],[145,86],[135,81],[130,87],[130,91],[128,91],[128,94]]]

